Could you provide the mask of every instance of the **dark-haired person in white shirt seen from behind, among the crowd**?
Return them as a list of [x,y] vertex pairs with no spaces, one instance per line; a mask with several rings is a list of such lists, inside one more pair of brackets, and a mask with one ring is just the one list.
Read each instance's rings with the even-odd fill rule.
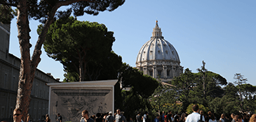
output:
[[[194,112],[192,114],[189,114],[189,116],[187,116],[187,119],[185,122],[198,122],[200,120],[201,114],[198,114],[199,112],[198,105],[194,105],[192,109]],[[202,116],[202,121],[205,121],[203,116]]]

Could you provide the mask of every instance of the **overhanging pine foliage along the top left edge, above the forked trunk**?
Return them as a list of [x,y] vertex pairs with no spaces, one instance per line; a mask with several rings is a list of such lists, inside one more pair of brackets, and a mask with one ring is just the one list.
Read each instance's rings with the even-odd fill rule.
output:
[[[39,20],[42,23],[45,23],[49,13],[51,13],[51,10],[55,6],[60,7],[60,3],[62,2],[62,6],[67,6],[67,10],[59,10],[57,11],[57,14],[55,15],[55,20],[60,18],[67,18],[69,15],[73,12],[75,16],[82,16],[84,13],[87,13],[89,15],[98,15],[100,12],[103,12],[105,10],[112,11],[118,8],[119,6],[123,5],[125,0],[95,0],[95,1],[69,1],[69,2],[63,2],[60,0],[29,0],[27,1],[27,5],[29,7],[27,8],[28,11],[28,18],[33,18],[34,20]],[[19,1],[17,0],[5,0],[0,1],[0,4],[3,4],[4,6],[18,6]],[[7,11],[3,11],[5,15],[6,13],[9,14]],[[3,14],[3,15],[4,15]],[[1,14],[2,15],[2,14]],[[0,20],[3,22],[4,20]]]

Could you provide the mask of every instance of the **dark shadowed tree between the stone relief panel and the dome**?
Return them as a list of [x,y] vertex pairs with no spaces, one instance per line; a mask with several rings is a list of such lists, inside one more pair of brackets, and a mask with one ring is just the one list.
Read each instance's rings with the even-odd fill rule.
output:
[[123,63],[119,70],[119,82],[122,84],[122,89],[130,88],[129,91],[122,91],[123,104],[115,106],[123,109],[125,116],[135,116],[135,112],[139,110],[151,109],[148,98],[159,86],[156,79],[143,75],[136,68]]

